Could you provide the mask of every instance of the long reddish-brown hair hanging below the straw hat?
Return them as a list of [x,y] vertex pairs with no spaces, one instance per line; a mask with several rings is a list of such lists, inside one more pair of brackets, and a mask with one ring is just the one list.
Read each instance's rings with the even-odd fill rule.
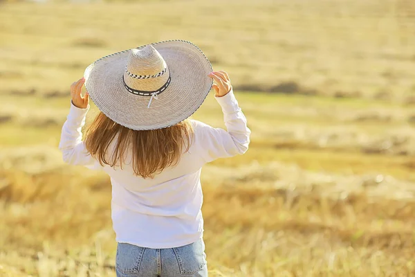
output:
[[[189,150],[193,138],[194,130],[189,118],[163,129],[137,131],[115,123],[100,112],[86,127],[85,145],[101,166],[107,164],[122,168],[131,151],[135,175],[151,178],[165,168],[175,166],[181,155]],[[108,153],[111,143],[114,143],[114,148]]]

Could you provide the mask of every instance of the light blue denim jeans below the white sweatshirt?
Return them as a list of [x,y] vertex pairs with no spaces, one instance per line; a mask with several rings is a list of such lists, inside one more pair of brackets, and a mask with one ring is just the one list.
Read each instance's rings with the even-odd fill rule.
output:
[[168,249],[118,243],[116,272],[117,277],[207,277],[205,243],[200,239]]

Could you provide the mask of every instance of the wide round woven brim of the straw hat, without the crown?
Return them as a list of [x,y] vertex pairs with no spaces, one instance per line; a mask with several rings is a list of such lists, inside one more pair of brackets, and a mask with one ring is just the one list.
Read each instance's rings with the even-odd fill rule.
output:
[[[212,65],[191,42],[171,40],[151,44],[165,60],[172,78],[157,99],[138,96],[124,87],[122,76],[129,51],[114,53],[93,62],[84,73],[91,100],[114,122],[135,130],[161,129],[189,118],[205,100],[213,81]],[[138,48],[143,48],[140,46]]]

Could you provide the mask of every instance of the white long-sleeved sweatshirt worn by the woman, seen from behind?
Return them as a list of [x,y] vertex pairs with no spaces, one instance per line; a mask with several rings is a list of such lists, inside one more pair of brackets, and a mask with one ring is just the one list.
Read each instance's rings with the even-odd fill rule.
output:
[[101,169],[111,177],[111,217],[117,242],[163,249],[202,238],[201,167],[214,159],[245,153],[250,142],[250,129],[233,91],[216,100],[228,132],[192,120],[194,143],[190,151],[154,179],[137,177],[130,164],[123,165],[122,170],[100,166],[82,141],[81,127],[89,107],[79,109],[71,104],[59,149],[66,163]]

